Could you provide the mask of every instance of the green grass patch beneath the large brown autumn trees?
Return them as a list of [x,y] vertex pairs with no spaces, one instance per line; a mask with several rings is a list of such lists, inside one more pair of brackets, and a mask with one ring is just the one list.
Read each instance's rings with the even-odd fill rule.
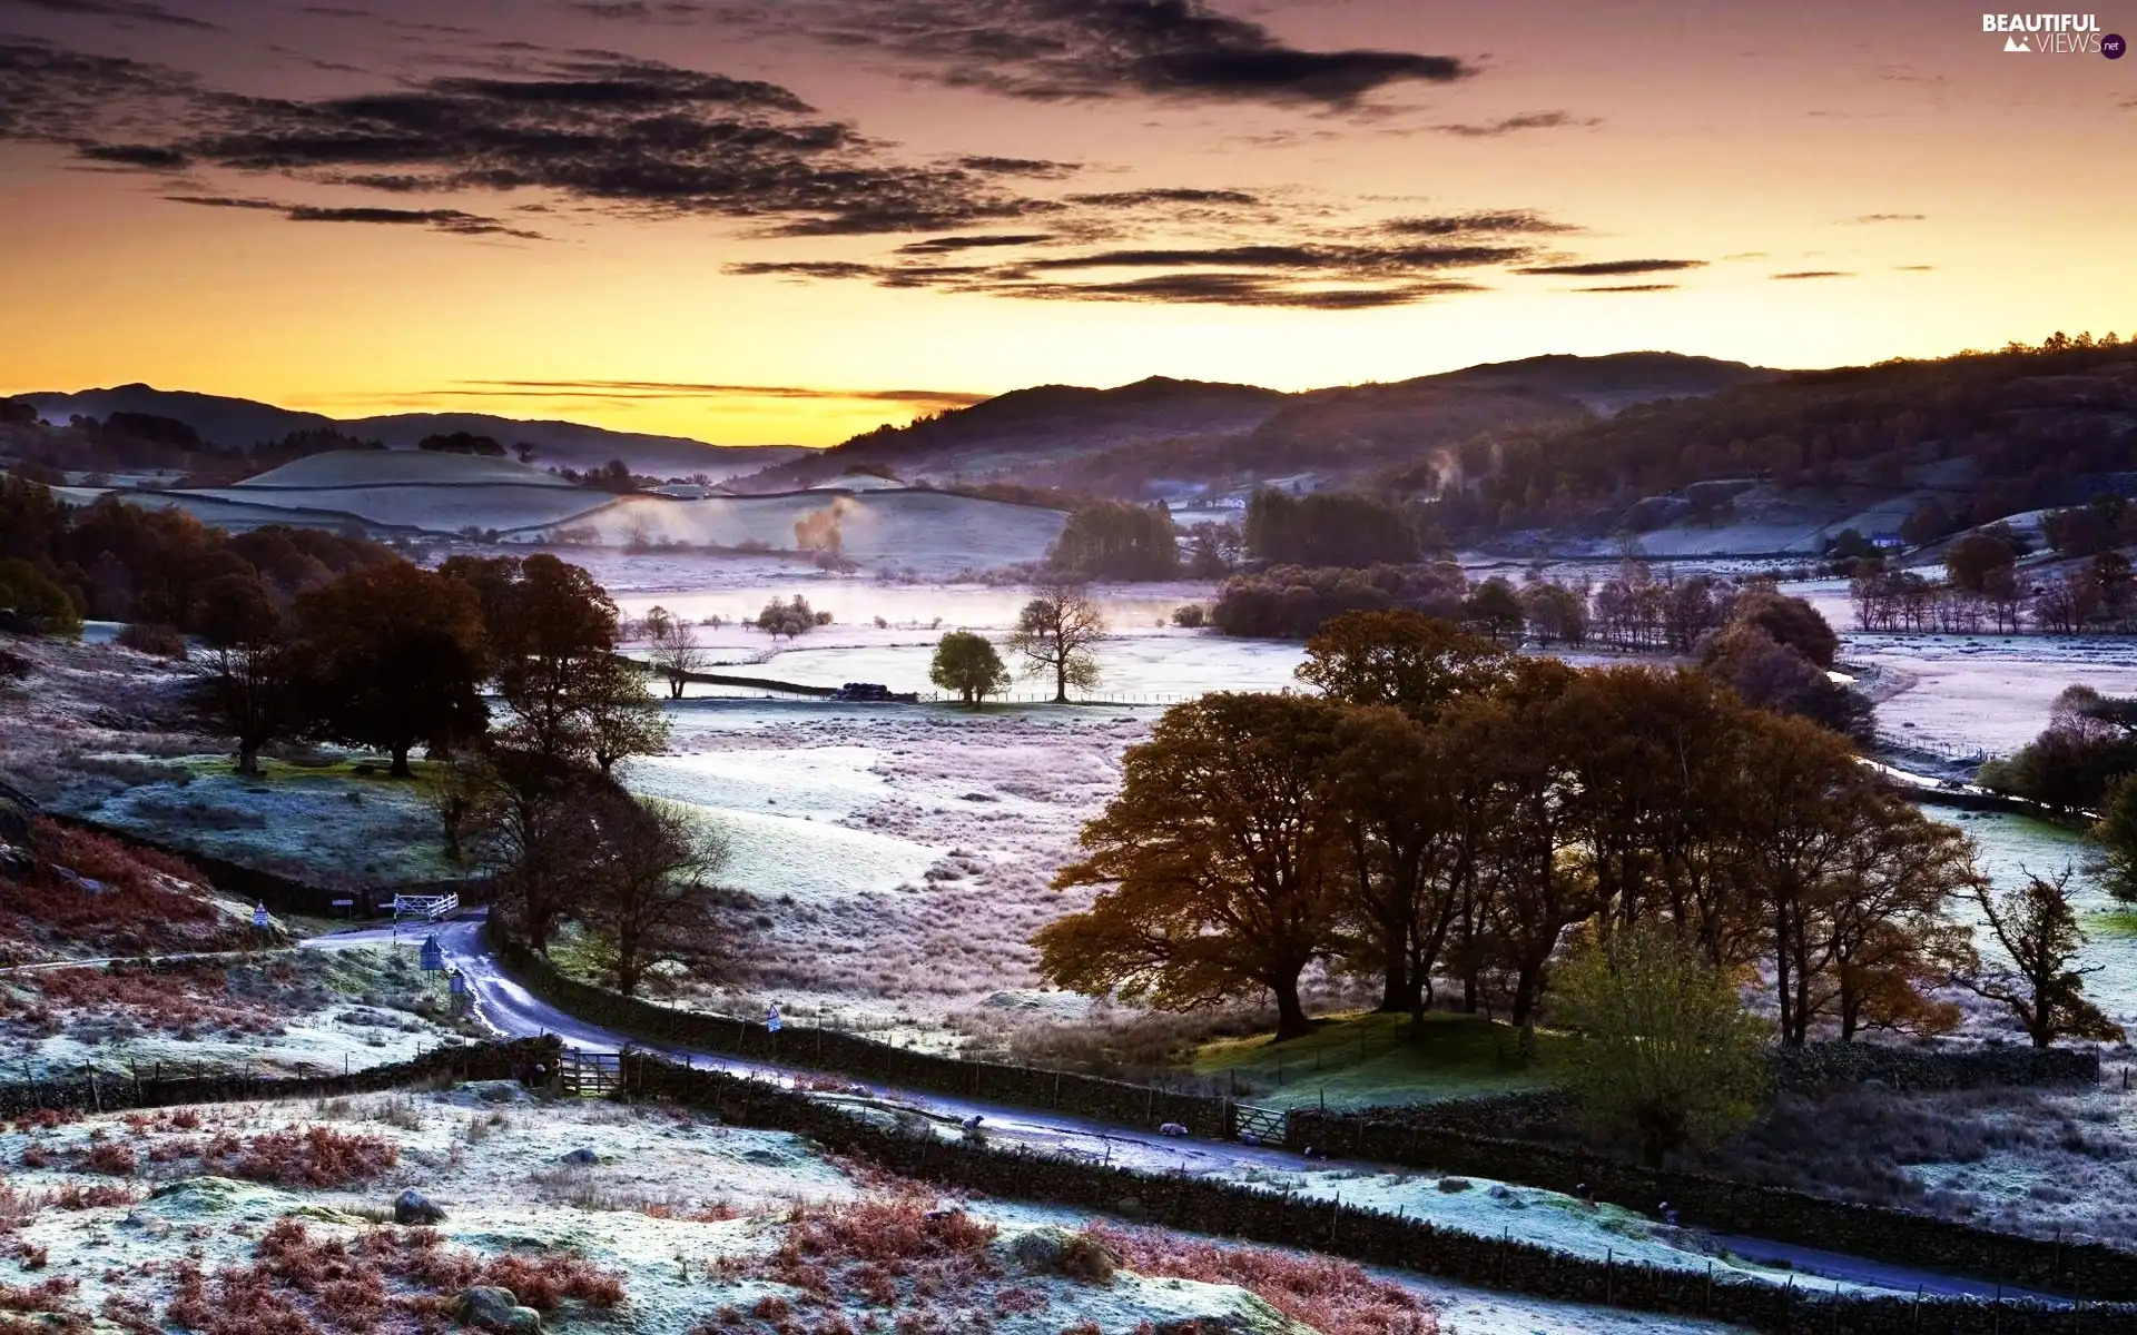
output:
[[1201,1077],[1237,1074],[1242,1091],[1265,1106],[1415,1104],[1547,1087],[1562,1040],[1539,1032],[1534,1064],[1519,1059],[1519,1040],[1513,1025],[1481,1015],[1436,1010],[1417,1038],[1406,1015],[1336,1015],[1291,1042],[1267,1034],[1205,1042],[1188,1066]]

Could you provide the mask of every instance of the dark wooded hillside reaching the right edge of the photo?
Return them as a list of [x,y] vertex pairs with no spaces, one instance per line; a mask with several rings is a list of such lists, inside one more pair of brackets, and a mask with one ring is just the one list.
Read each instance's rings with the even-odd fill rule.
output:
[[[1752,378],[1479,438],[1376,481],[1438,498],[1451,538],[1633,532],[1658,534],[1650,551],[1816,551],[1842,528],[1925,543],[2120,496],[2133,470],[2137,348],[2052,340]],[[1759,525],[1793,536],[1769,545],[1750,532]]]

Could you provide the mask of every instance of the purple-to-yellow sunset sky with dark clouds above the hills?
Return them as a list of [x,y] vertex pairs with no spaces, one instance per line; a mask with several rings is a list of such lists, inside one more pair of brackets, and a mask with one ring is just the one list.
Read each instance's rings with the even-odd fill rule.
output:
[[2118,2],[0,0],[0,393],[833,444],[2131,337]]

